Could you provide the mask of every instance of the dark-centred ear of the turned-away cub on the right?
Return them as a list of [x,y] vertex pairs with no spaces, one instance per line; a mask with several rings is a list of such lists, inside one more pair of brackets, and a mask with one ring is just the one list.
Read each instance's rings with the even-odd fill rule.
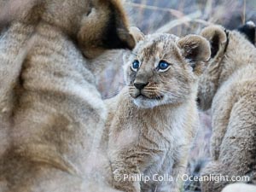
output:
[[201,31],[201,36],[207,38],[211,44],[211,58],[224,51],[227,43],[227,34],[223,26],[207,26]]

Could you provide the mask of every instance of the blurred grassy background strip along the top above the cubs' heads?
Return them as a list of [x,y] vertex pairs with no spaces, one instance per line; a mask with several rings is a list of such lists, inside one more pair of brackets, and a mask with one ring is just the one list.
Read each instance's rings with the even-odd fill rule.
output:
[[131,20],[143,32],[198,33],[208,23],[234,29],[256,19],[255,0],[131,0]]

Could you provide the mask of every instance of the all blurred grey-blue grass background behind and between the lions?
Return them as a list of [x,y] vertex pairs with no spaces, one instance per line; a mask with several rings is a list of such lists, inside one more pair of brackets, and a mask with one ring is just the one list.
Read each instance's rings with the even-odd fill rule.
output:
[[[125,9],[130,15],[131,25],[139,27],[145,34],[169,32],[177,36],[199,34],[210,24],[220,24],[236,29],[248,20],[256,22],[256,0],[126,0]],[[118,51],[111,67],[102,74],[99,89],[103,98],[118,94],[125,85],[122,71],[122,54]],[[200,174],[210,157],[212,134],[210,111],[200,112],[201,126],[191,148],[187,173]],[[182,191],[199,192],[200,184],[187,182]]]

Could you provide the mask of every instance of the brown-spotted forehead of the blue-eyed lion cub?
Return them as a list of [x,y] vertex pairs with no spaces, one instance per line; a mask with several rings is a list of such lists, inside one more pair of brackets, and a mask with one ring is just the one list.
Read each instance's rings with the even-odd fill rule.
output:
[[134,52],[137,55],[152,56],[163,55],[165,50],[177,48],[177,36],[165,33],[156,33],[145,36],[144,40],[137,44]]

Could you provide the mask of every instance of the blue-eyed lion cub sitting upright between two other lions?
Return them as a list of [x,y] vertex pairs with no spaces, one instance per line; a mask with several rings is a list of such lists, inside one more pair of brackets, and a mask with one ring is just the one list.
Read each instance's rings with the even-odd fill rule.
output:
[[124,56],[128,86],[106,102],[113,186],[129,192],[178,191],[198,125],[197,79],[210,45],[196,35],[131,31],[137,46]]

